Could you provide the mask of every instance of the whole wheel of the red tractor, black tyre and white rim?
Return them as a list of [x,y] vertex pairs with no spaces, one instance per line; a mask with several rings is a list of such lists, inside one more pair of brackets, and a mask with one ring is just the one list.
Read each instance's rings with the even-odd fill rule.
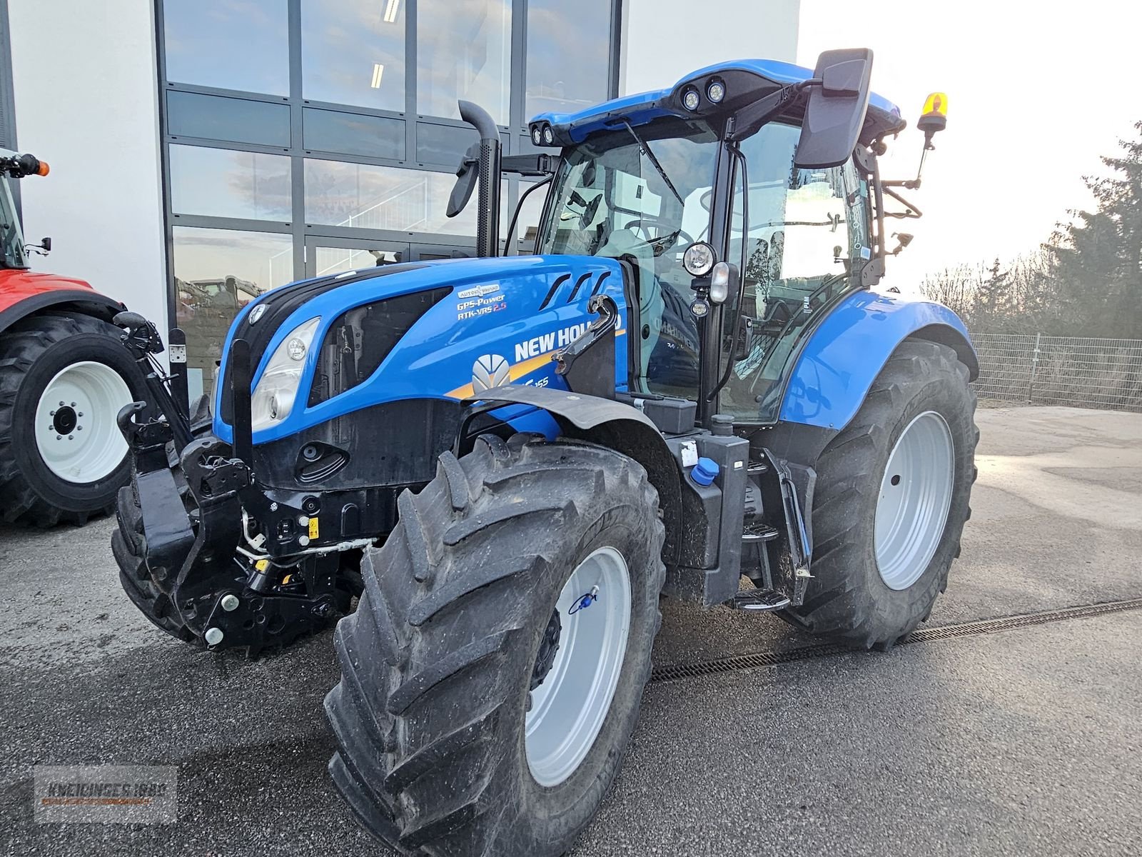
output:
[[82,524],[112,510],[130,478],[115,416],[146,395],[119,337],[87,315],[37,315],[0,335],[0,520]]

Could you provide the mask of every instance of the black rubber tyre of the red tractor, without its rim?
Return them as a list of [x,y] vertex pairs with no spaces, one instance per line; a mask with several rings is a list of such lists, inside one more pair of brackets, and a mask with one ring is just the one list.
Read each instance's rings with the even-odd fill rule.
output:
[[124,451],[103,479],[67,482],[40,457],[33,423],[47,385],[81,361],[111,367],[135,399],[146,397],[143,373],[120,335],[113,325],[88,315],[35,315],[0,334],[0,520],[54,527],[83,524],[111,512],[115,492],[130,478],[130,456]]

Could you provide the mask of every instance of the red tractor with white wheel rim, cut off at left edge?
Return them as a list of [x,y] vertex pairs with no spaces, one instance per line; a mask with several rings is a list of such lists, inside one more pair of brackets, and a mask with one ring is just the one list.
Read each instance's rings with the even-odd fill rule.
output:
[[0,521],[50,527],[108,512],[130,478],[120,408],[143,373],[111,323],[126,307],[82,280],[33,272],[9,178],[48,165],[0,149]]

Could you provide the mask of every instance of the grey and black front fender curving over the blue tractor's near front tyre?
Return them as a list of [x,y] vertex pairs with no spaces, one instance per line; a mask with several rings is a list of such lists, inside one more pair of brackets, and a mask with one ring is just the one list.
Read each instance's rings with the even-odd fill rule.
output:
[[662,559],[667,564],[677,560],[677,534],[682,521],[678,466],[662,433],[642,411],[611,399],[514,384],[480,393],[478,400],[466,400],[469,405],[475,401],[538,408],[552,416],[563,436],[588,440],[638,462],[658,491],[662,510],[666,526]]

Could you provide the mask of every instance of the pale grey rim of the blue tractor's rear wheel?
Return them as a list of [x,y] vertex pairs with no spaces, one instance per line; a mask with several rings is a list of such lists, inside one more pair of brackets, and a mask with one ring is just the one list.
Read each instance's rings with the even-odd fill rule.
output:
[[876,564],[892,590],[907,590],[935,555],[951,507],[956,448],[942,416],[927,410],[896,439],[876,504]]

